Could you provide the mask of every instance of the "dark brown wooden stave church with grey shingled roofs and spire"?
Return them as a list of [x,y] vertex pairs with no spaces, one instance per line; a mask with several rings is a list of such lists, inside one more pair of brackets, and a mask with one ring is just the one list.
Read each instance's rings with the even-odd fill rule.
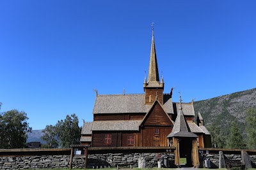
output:
[[[143,94],[96,95],[93,122],[84,122],[81,144],[92,147],[177,146],[177,141],[211,147],[211,136],[200,113],[196,123],[193,100],[174,103],[172,90],[164,94],[159,78],[154,29],[148,78]],[[182,143],[180,143],[182,145]],[[183,145],[186,145],[184,143]],[[192,147],[192,146],[191,146]],[[190,150],[191,152],[191,150]]]

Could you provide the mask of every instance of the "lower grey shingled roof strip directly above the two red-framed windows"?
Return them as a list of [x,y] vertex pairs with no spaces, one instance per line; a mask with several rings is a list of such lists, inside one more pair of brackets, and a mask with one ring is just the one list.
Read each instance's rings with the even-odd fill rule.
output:
[[92,131],[139,131],[141,120],[93,121]]

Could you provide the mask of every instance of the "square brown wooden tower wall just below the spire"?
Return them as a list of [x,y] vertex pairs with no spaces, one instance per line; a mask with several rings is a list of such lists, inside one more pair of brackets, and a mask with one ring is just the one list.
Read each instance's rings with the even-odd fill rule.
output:
[[[156,100],[156,91],[158,96],[158,101],[163,104],[163,90],[164,89],[145,89],[145,104],[153,104]],[[149,101],[149,96],[151,95],[151,102]]]

